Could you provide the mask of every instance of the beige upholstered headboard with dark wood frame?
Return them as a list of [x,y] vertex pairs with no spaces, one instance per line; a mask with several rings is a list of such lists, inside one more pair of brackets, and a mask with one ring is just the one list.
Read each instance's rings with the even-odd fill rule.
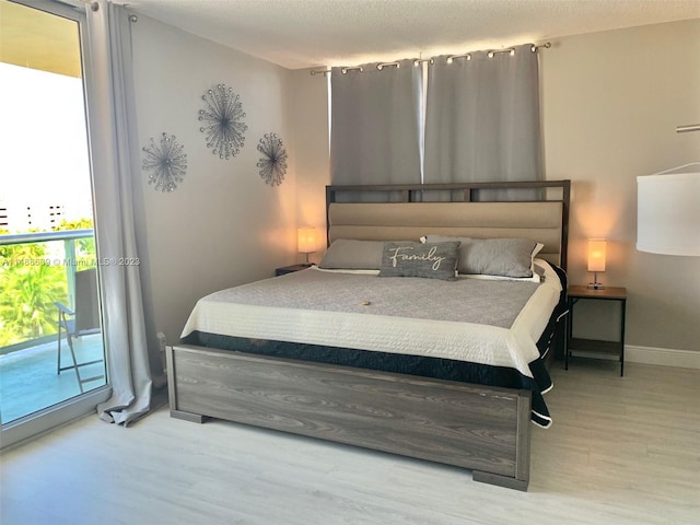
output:
[[[523,202],[472,202],[475,189],[517,187],[559,188],[548,200]],[[421,235],[462,237],[523,237],[542,243],[539,257],[567,267],[569,180],[536,183],[485,183],[418,186],[328,186],[328,243],[336,238],[366,241],[418,241]],[[526,185],[526,186],[524,186]],[[415,191],[423,189],[464,190],[465,199],[452,202],[412,202]],[[340,191],[401,191],[401,202],[336,202]],[[556,191],[555,191],[556,192]]]

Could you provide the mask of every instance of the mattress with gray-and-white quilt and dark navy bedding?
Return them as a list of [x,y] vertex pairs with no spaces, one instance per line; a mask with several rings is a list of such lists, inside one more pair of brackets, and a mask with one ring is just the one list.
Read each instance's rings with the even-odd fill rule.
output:
[[[462,278],[380,278],[307,270],[212,293],[198,301],[184,342],[527,388],[533,420],[551,422],[541,394],[551,381],[537,341],[562,284]],[[281,345],[283,343],[283,345]],[[408,364],[407,364],[408,363]]]

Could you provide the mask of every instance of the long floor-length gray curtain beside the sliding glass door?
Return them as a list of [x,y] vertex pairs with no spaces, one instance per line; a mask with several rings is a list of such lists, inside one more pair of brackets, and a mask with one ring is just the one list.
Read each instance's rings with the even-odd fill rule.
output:
[[[103,329],[112,397],[97,407],[100,417],[128,424],[147,413],[152,394],[149,357],[158,348],[141,287],[148,271],[143,207],[138,176],[138,133],[131,67],[129,13],[121,5],[97,1],[88,13],[91,54],[89,78],[96,95],[90,105],[97,256],[102,287]],[[133,178],[133,180],[132,180]],[[142,235],[141,237],[139,235]],[[139,259],[124,265],[120,259]],[[155,346],[153,346],[155,345]]]

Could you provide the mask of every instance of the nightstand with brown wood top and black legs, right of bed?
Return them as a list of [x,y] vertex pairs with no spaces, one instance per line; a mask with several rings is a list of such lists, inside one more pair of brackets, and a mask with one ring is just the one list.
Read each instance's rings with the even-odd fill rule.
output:
[[[620,340],[603,341],[599,339],[582,339],[572,337],[574,305],[582,300],[596,299],[602,301],[617,301],[620,303]],[[571,285],[568,290],[569,322],[567,327],[567,350],[564,352],[564,370],[569,370],[569,354],[571,349],[591,351],[620,358],[620,376],[625,375],[625,311],[627,308],[627,289],[605,288],[590,290],[587,287]]]

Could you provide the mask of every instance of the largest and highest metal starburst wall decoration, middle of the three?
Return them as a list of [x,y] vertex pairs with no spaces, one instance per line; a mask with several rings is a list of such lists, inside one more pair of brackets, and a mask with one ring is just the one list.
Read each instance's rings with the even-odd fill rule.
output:
[[241,97],[225,84],[208,90],[202,95],[205,108],[199,110],[199,128],[207,137],[207,148],[211,148],[220,159],[236,156],[243,148],[245,131],[248,129],[242,120],[245,117]]

